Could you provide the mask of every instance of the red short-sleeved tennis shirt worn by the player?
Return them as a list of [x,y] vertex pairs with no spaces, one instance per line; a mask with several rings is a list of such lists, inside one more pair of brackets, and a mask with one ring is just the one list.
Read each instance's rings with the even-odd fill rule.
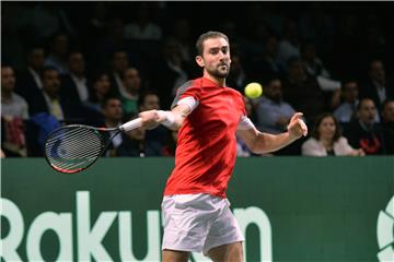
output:
[[200,78],[177,91],[173,106],[193,97],[198,106],[178,131],[175,168],[164,195],[209,193],[225,198],[236,159],[235,131],[245,115],[243,96]]

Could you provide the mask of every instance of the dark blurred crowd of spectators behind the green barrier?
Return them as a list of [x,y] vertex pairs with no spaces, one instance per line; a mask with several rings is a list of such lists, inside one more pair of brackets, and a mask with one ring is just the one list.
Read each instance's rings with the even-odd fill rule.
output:
[[[296,11],[297,10],[297,11]],[[394,154],[394,11],[391,2],[2,2],[1,154],[43,156],[62,124],[114,128],[169,109],[201,75],[195,41],[230,38],[227,84],[243,93],[263,132],[296,111],[310,135],[274,155]],[[391,47],[391,48],[390,48]],[[137,129],[106,156],[173,156],[175,131]],[[240,140],[239,156],[256,156]]]

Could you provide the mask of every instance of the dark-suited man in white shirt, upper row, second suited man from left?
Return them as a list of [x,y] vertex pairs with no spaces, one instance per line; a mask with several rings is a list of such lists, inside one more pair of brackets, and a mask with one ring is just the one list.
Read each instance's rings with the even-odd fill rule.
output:
[[88,80],[85,76],[85,60],[80,51],[71,51],[68,56],[69,73],[61,78],[61,97],[71,97],[76,103],[89,100]]

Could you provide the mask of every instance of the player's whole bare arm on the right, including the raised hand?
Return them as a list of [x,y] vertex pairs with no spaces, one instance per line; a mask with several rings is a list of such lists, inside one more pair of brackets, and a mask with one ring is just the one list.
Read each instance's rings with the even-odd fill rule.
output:
[[288,131],[281,134],[263,133],[252,122],[244,128],[239,128],[236,134],[255,154],[274,152],[308,134],[308,127],[301,117],[302,112],[296,112],[290,119]]

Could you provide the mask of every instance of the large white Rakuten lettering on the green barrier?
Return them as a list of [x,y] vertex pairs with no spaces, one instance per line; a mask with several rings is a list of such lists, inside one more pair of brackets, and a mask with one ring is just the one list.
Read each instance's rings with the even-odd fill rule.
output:
[[[8,235],[0,241],[0,257],[4,261],[22,261],[18,250],[26,237],[26,257],[28,261],[44,261],[40,240],[47,230],[53,230],[59,241],[57,261],[113,261],[102,241],[114,223],[118,223],[118,253],[121,261],[139,261],[132,252],[132,222],[130,211],[101,212],[91,223],[91,203],[89,191],[77,192],[76,214],[70,212],[44,212],[35,217],[25,231],[23,214],[18,205],[8,199],[1,199],[1,216],[9,222]],[[72,224],[76,215],[77,225]],[[258,207],[234,209],[241,229],[255,224],[260,236],[260,261],[271,261],[271,228],[266,214]],[[76,226],[76,228],[73,228]],[[77,241],[73,241],[77,231]],[[147,211],[148,250],[140,261],[160,261],[161,258],[161,217],[159,211]],[[247,241],[244,249],[247,248]],[[78,258],[73,258],[77,249]],[[245,251],[245,250],[244,250]],[[201,254],[194,253],[194,261],[207,261]]]

